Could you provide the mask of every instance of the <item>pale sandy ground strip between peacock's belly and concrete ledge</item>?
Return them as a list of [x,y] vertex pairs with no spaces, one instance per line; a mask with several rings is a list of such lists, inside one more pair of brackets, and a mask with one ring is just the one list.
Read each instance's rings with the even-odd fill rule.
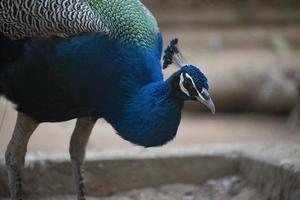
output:
[[[0,130],[0,155],[3,156],[11,137],[16,112],[11,106]],[[299,130],[287,130],[286,117],[257,114],[210,114],[184,112],[177,137],[161,148],[207,143],[300,142]],[[41,124],[32,136],[29,153],[64,153],[75,121]],[[88,151],[139,148],[121,139],[104,120],[93,130]]]

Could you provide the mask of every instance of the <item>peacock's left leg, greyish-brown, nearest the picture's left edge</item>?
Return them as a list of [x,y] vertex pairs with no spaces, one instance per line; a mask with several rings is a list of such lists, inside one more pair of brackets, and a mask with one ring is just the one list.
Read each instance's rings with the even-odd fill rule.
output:
[[13,136],[7,146],[5,160],[12,200],[22,199],[21,170],[25,163],[27,144],[38,123],[29,116],[18,113]]

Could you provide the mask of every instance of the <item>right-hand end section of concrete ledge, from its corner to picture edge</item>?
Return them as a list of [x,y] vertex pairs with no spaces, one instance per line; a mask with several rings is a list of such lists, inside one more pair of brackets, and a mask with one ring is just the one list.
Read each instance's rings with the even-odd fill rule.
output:
[[240,173],[268,199],[300,199],[300,145],[269,143],[241,150]]

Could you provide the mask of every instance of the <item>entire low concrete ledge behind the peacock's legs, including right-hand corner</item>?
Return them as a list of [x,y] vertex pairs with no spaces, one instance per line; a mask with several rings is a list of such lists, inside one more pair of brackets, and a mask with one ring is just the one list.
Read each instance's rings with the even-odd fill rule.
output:
[[[86,190],[92,196],[160,187],[199,184],[240,174],[272,200],[298,200],[300,148],[297,144],[219,144],[175,149],[135,149],[87,155]],[[74,194],[67,154],[29,155],[24,191],[30,199]],[[5,166],[0,164],[0,198],[8,196]]]

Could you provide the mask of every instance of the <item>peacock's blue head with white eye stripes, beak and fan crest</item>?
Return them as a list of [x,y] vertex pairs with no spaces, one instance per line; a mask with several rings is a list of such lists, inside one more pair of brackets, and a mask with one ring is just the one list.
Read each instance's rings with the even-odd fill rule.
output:
[[171,63],[180,67],[172,76],[173,94],[182,100],[194,100],[204,104],[213,114],[215,105],[208,92],[208,80],[203,72],[190,64],[186,64],[184,57],[177,48],[178,39],[173,39],[165,50],[164,69]]

